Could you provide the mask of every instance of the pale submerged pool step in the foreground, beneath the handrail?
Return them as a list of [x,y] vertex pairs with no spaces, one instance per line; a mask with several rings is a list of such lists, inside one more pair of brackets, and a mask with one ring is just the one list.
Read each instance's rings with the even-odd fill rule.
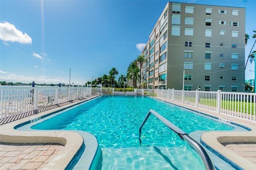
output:
[[[204,169],[204,164],[194,151],[184,147],[101,148],[102,170],[138,169]],[[195,158],[197,157],[197,158]],[[198,160],[199,159],[199,160]]]

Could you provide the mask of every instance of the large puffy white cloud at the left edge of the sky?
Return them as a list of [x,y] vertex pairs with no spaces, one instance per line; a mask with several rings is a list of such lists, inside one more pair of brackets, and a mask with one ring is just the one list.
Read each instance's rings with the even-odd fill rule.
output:
[[0,39],[4,42],[18,42],[32,44],[32,38],[26,33],[22,33],[9,22],[0,22]]

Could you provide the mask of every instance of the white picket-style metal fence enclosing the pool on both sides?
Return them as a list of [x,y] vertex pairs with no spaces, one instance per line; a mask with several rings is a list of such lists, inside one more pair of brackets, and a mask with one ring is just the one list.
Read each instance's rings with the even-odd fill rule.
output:
[[[122,94],[128,95],[128,92]],[[131,94],[158,97],[183,105],[256,121],[255,93],[134,89]],[[7,87],[0,85],[0,119],[91,95],[114,95],[114,88]]]

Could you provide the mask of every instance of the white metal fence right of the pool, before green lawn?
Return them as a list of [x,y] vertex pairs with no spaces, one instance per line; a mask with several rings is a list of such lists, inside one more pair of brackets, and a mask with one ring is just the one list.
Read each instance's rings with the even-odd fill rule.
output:
[[[163,95],[168,93],[168,95]],[[256,121],[256,93],[158,90],[157,97],[183,105]]]

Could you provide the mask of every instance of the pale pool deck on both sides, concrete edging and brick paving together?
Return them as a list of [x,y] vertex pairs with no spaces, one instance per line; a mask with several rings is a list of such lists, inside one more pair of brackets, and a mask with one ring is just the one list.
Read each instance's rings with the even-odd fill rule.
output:
[[[77,100],[53,109],[46,109],[46,111],[39,114],[30,115],[10,123],[0,125],[0,170],[65,169],[70,160],[72,160],[76,152],[82,146],[83,140],[86,140],[83,139],[80,134],[71,131],[58,130],[47,132],[40,131],[40,133],[38,133],[35,131],[15,130],[14,127],[26,121],[71,107],[94,97],[97,96]],[[171,103],[170,101],[168,102]],[[179,105],[178,103],[173,104]],[[184,105],[182,107],[184,107]],[[232,162],[235,162],[238,166],[246,170],[256,169],[255,122],[238,119],[228,115],[217,114],[202,109],[195,109],[194,107],[185,107],[214,117],[228,119],[233,123],[250,128],[251,131],[248,132],[205,132],[202,134],[201,139],[212,149],[218,151]],[[57,149],[54,150],[56,146]]]

